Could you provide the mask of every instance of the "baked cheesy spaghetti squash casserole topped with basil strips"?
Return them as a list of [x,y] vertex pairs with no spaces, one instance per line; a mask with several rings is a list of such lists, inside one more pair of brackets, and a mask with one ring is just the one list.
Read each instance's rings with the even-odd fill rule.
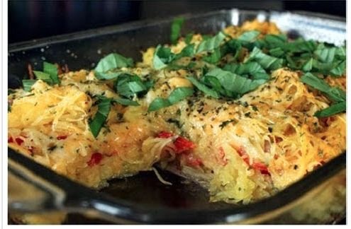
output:
[[345,47],[257,20],[181,37],[182,23],[137,64],[113,53],[91,71],[30,71],[9,90],[9,146],[96,189],[166,169],[244,204],[345,151]]

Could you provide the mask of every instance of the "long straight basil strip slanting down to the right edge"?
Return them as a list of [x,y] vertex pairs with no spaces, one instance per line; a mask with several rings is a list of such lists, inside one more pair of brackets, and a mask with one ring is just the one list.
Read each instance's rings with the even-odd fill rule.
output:
[[306,73],[301,76],[300,80],[306,83],[308,86],[320,90],[324,93],[330,100],[335,102],[346,101],[346,93],[340,88],[331,87],[328,83],[325,83],[323,79],[314,76],[311,73]]

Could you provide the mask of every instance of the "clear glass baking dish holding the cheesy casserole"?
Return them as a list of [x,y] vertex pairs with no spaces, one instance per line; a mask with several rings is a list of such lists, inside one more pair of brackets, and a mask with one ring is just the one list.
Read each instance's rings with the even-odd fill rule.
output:
[[[343,45],[345,18],[307,12],[214,11],[184,15],[185,33],[216,33],[228,25],[259,19],[277,23],[289,37]],[[171,19],[110,26],[9,45],[9,88],[21,86],[27,64],[68,64],[92,69],[110,52],[140,60],[140,50],[169,42]],[[65,223],[335,223],[346,213],[346,153],[262,201],[233,205],[209,203],[206,190],[162,172],[172,187],[152,172],[112,180],[96,192],[35,163],[9,148],[9,215],[68,213]],[[15,217],[16,218],[16,217]]]

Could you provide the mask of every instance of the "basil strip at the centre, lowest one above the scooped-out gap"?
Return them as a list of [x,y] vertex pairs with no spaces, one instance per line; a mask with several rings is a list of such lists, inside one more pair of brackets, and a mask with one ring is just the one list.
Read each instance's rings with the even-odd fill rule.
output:
[[174,105],[175,103],[184,100],[184,98],[194,94],[194,90],[192,88],[187,87],[179,87],[175,88],[172,93],[170,93],[169,97],[166,98],[155,98],[148,108],[148,112],[160,110],[164,107],[169,107]]

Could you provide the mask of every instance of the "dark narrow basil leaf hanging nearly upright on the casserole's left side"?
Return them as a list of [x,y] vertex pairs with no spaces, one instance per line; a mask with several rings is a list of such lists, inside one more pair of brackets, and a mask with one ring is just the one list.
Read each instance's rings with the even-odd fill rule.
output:
[[95,138],[99,135],[101,128],[106,122],[108,113],[111,110],[111,100],[112,99],[105,98],[99,102],[98,111],[89,123],[91,134],[93,134]]

